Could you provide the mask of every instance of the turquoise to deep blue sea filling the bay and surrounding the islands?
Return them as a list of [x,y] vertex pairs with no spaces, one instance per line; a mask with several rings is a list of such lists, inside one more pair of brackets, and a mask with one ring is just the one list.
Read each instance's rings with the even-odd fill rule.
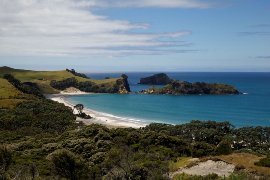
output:
[[[123,73],[82,72],[91,79],[119,78]],[[187,82],[223,83],[235,86],[241,95],[149,95],[140,78],[161,72],[127,72],[131,94],[89,94],[65,97],[95,113],[129,122],[184,124],[191,120],[229,121],[236,128],[270,126],[270,73],[264,72],[163,72]],[[162,85],[155,85],[162,87]]]

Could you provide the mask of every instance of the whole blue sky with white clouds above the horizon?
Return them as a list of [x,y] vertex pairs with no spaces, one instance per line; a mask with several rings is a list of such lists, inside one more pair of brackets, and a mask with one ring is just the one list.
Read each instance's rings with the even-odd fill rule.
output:
[[0,66],[270,71],[269,0],[1,0]]

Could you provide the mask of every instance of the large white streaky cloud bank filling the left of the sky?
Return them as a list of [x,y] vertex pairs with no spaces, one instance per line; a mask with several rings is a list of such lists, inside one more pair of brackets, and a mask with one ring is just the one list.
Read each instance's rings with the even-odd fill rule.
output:
[[[166,2],[166,3],[165,3]],[[80,0],[1,0],[0,55],[73,56],[179,53],[192,50],[155,50],[180,46],[178,38],[191,31],[134,33],[149,29],[149,23],[109,19],[92,13],[91,7],[183,7],[204,8],[208,3],[196,0],[80,1]],[[189,46],[189,44],[182,44]],[[117,50],[113,49],[117,48]],[[111,56],[110,56],[111,55]]]

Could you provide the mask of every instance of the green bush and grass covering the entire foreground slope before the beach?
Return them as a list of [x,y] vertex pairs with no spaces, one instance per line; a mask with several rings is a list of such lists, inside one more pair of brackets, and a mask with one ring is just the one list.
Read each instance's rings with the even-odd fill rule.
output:
[[[73,108],[23,92],[22,80],[5,76],[0,78],[0,179],[270,178],[270,127],[236,129],[227,121],[199,120],[141,128],[85,125],[76,122]],[[74,108],[83,113],[83,104]],[[235,164],[234,171],[229,176],[176,173],[209,159]]]

